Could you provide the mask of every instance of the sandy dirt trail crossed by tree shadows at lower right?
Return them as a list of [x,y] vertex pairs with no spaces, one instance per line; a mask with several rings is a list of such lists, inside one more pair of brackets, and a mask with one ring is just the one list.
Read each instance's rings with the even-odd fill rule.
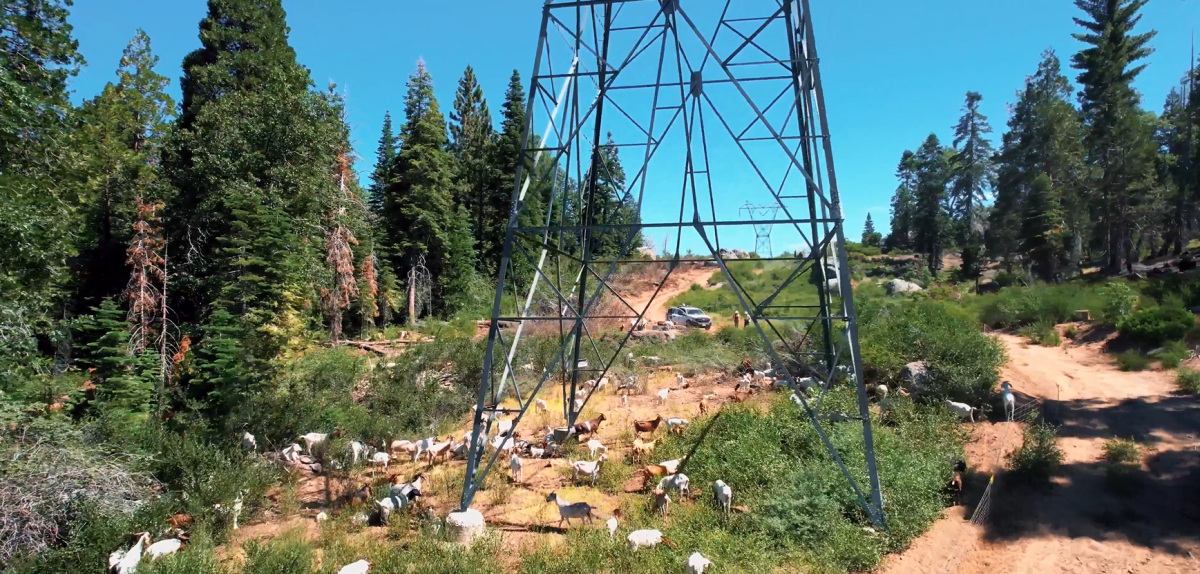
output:
[[[1103,341],[1028,346],[1000,335],[1009,364],[1002,373],[1018,401],[1042,399],[1061,424],[1063,473],[1049,491],[997,476],[991,515],[972,526],[970,512],[988,473],[1021,442],[1015,423],[972,427],[968,507],[947,509],[934,527],[881,572],[937,573],[1194,573],[1200,570],[1200,403],[1171,395],[1166,372],[1122,372]],[[998,418],[996,414],[992,418]],[[1144,444],[1136,486],[1115,494],[1100,461],[1114,436]],[[1193,557],[1195,556],[1195,557]]]

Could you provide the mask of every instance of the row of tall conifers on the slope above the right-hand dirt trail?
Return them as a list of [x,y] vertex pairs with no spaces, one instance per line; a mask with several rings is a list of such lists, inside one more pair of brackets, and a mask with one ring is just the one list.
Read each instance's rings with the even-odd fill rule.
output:
[[1189,70],[1160,114],[1142,107],[1133,84],[1156,34],[1138,26],[1146,2],[1076,0],[1073,36],[1085,46],[1069,61],[1075,84],[1046,50],[998,148],[982,96],[967,92],[950,145],[930,134],[904,153],[884,247],[928,255],[935,275],[956,249],[964,279],[988,257],[1045,281],[1088,265],[1128,273],[1186,250],[1200,231],[1200,102]]

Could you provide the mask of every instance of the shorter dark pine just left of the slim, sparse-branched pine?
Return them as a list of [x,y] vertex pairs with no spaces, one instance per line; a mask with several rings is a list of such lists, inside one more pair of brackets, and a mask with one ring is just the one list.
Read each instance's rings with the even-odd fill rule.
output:
[[935,277],[942,269],[942,252],[949,241],[949,205],[947,184],[949,165],[946,148],[930,133],[913,156],[917,174],[913,217],[914,247],[925,255],[929,273]]

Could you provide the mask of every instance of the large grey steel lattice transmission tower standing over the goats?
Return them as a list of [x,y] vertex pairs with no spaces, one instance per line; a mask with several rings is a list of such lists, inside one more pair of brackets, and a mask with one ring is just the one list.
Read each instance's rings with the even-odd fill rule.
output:
[[[520,429],[542,396],[574,424],[592,399],[576,408],[584,381],[636,372],[630,322],[668,276],[715,261],[786,383],[816,382],[812,396],[792,395],[797,414],[883,525],[852,292],[838,281],[850,269],[810,13],[809,0],[545,2],[462,509],[499,458],[485,448],[498,417]],[[731,216],[746,202],[778,209]],[[722,257],[761,225],[808,255]],[[630,257],[643,232],[664,231],[672,258]],[[772,293],[744,289],[740,264],[772,265]],[[635,305],[614,280],[637,269],[659,274],[659,291]],[[824,400],[838,379],[857,388],[857,412]],[[854,421],[862,452],[844,456],[826,427]]]

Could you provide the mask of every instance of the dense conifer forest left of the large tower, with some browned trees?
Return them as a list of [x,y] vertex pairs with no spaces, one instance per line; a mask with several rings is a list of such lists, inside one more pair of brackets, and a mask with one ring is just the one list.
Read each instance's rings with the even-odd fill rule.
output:
[[[0,390],[61,408],[79,383],[62,375],[86,371],[103,384],[67,408],[214,415],[320,333],[491,309],[527,124],[516,71],[498,121],[469,66],[448,118],[418,62],[365,185],[344,100],[296,60],[280,0],[208,2],[181,102],[138,31],[79,106],[71,4],[0,0]],[[635,221],[616,147],[598,157],[595,178],[541,162],[520,222],[574,221],[583,197]],[[624,238],[593,240],[605,257]],[[533,273],[515,256],[508,277]]]

